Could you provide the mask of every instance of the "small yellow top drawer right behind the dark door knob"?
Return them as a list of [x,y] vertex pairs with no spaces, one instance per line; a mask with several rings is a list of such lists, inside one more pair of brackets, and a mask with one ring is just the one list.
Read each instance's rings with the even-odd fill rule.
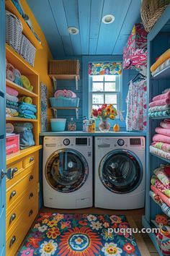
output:
[[8,171],[10,168],[15,169],[14,178],[13,179],[6,178],[6,189],[11,187],[14,183],[17,182],[17,180],[22,178],[22,172],[24,171],[24,166],[23,166],[22,160],[23,160],[23,158],[19,161],[12,163],[12,164],[9,164],[9,166],[6,166],[6,171]]

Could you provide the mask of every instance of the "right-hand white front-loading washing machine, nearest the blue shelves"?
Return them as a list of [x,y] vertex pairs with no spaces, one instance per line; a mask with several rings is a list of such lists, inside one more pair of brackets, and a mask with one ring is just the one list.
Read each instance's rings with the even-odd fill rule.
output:
[[145,137],[95,138],[97,208],[143,208],[146,178]]

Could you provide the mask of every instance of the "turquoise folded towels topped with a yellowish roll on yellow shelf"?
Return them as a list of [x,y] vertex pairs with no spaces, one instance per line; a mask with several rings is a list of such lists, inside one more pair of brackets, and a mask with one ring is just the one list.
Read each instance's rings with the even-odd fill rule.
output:
[[24,96],[19,98],[18,112],[19,117],[26,119],[36,119],[35,114],[37,113],[37,106],[32,104],[32,98]]

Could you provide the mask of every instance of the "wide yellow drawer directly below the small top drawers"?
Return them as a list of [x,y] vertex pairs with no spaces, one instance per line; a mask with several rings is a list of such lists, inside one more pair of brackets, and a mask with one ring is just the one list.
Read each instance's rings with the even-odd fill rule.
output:
[[[25,170],[26,171],[26,170]],[[27,176],[20,179],[14,186],[6,190],[6,208],[8,210],[12,209],[14,203],[19,202],[22,195],[32,187],[33,184],[38,182],[38,171],[30,167],[27,169]],[[9,209],[8,209],[9,208]]]

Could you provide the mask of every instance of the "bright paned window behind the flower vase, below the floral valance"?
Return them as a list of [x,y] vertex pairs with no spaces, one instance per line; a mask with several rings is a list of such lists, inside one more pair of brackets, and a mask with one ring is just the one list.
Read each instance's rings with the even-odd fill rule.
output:
[[113,104],[121,110],[120,77],[118,75],[93,75],[91,80],[90,111],[102,104]]

